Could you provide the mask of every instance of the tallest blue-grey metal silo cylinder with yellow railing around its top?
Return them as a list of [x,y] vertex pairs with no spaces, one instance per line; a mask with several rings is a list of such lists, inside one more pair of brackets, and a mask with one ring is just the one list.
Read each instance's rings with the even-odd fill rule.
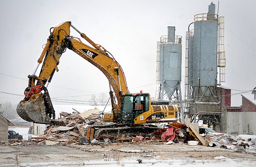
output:
[[207,14],[195,15],[193,37],[195,99],[210,102],[208,97],[217,96],[218,15],[214,4],[209,5]]

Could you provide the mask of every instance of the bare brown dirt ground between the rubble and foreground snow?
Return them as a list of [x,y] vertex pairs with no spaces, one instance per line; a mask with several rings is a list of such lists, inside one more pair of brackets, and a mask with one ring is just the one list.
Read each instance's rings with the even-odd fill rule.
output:
[[20,166],[22,163],[59,161],[120,161],[120,160],[212,160],[224,156],[235,161],[256,163],[256,152],[241,152],[214,147],[187,144],[109,144],[105,145],[0,145],[0,167]]

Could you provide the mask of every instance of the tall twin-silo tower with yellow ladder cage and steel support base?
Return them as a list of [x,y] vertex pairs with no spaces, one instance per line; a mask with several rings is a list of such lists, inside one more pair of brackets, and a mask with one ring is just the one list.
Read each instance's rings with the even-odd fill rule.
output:
[[218,87],[225,82],[225,66],[224,17],[215,14],[211,3],[207,13],[194,16],[186,32],[184,109],[193,122],[203,120],[217,131],[225,106],[225,90]]

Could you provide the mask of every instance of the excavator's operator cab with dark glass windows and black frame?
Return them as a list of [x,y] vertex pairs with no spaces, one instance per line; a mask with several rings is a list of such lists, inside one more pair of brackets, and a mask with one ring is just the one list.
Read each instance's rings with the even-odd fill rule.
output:
[[[149,110],[148,93],[126,93],[122,100],[121,120],[123,124],[134,124],[134,119],[144,120],[141,115]],[[137,118],[141,115],[139,118]]]

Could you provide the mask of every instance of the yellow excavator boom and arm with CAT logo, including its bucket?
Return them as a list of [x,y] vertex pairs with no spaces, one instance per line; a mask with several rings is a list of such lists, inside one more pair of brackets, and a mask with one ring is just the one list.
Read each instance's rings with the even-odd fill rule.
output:
[[[47,81],[51,81],[55,71],[58,72],[59,60],[66,49],[72,50],[92,63],[108,78],[110,89],[111,87],[113,88],[117,99],[116,104],[111,90],[113,117],[114,119],[120,117],[122,95],[129,92],[121,66],[105,48],[94,43],[84,33],[79,32],[81,37],[87,40],[94,48],[82,43],[79,38],[70,36],[70,26],[79,32],[71,22],[63,22],[51,28],[53,30],[38,59],[38,65],[33,74],[28,76],[29,84],[24,92],[25,98],[17,105],[17,113],[26,121],[53,124],[51,118],[55,119],[55,111],[52,107],[47,86],[45,85]],[[36,76],[35,72],[42,62],[40,74]]]

